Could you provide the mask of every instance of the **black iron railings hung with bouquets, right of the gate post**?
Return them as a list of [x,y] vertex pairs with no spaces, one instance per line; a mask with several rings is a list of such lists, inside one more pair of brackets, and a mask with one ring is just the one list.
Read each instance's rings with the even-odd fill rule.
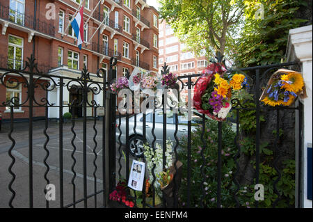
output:
[[[273,182],[273,186],[270,187],[269,189],[271,189],[271,191],[267,191],[267,192],[271,192],[271,193],[275,193],[275,200],[271,200],[271,204],[268,205],[268,207],[276,207],[278,206],[278,203],[280,203],[280,201],[282,200],[282,191],[280,190],[280,182],[282,179],[282,175],[284,168],[282,167],[282,151],[280,150],[280,146],[281,144],[278,142],[280,141],[280,133],[281,133],[281,115],[283,115],[284,113],[288,113],[288,112],[294,112],[294,115],[296,116],[296,118],[298,118],[298,122],[297,125],[294,126],[294,132],[298,132],[298,134],[295,136],[296,141],[298,141],[298,145],[296,145],[294,152],[298,152],[298,156],[297,159],[295,160],[297,164],[300,163],[300,141],[301,141],[301,109],[300,109],[300,105],[299,106],[294,106],[294,107],[268,107],[268,106],[263,106],[262,104],[260,104],[259,101],[259,97],[262,93],[262,86],[266,86],[266,83],[264,85],[264,80],[268,79],[271,74],[276,71],[278,68],[288,68],[290,66],[296,66],[296,68],[298,68],[298,63],[295,62],[291,62],[291,63],[282,63],[282,64],[274,64],[274,65],[263,65],[263,66],[257,66],[257,67],[251,67],[251,68],[242,68],[242,69],[229,69],[227,70],[227,72],[231,73],[231,72],[237,72],[237,73],[243,73],[243,74],[247,74],[249,72],[249,75],[251,77],[251,81],[250,81],[250,93],[254,94],[253,97],[253,106],[247,106],[246,104],[241,104],[241,102],[239,102],[239,100],[232,100],[232,119],[227,120],[227,122],[218,122],[216,124],[216,130],[217,133],[217,138],[214,141],[214,143],[217,144],[217,150],[216,150],[216,154],[217,154],[217,161],[216,161],[216,175],[215,175],[215,179],[216,180],[216,189],[214,190],[214,193],[209,193],[208,192],[208,187],[206,187],[204,184],[206,184],[207,182],[207,177],[208,175],[206,174],[206,171],[204,171],[204,166],[207,166],[207,164],[209,164],[206,159],[206,157],[204,157],[204,150],[207,147],[207,138],[204,138],[204,135],[207,136],[207,129],[206,129],[206,122],[209,121],[208,118],[206,118],[206,116],[200,114],[200,113],[194,113],[195,116],[198,116],[202,122],[200,123],[200,125],[198,125],[198,127],[200,127],[200,131],[198,131],[198,133],[200,132],[200,139],[202,141],[202,149],[199,150],[198,152],[200,153],[200,159],[194,159],[194,154],[195,154],[195,150],[194,150],[194,141],[192,141],[193,139],[193,122],[191,120],[188,120],[186,122],[186,140],[184,141],[184,148],[183,148],[183,152],[185,152],[186,154],[186,165],[183,166],[185,169],[185,174],[184,176],[186,178],[181,178],[181,176],[177,176],[179,178],[176,178],[177,180],[175,180],[175,175],[174,175],[174,179],[173,179],[173,186],[172,186],[172,190],[170,191],[170,194],[165,193],[163,191],[163,193],[161,195],[163,195],[163,198],[161,200],[161,203],[156,204],[156,197],[157,197],[157,193],[156,193],[156,189],[154,188],[154,183],[157,182],[158,178],[157,175],[154,174],[154,169],[155,169],[155,165],[154,168],[152,168],[152,173],[150,175],[147,175],[147,173],[145,174],[145,180],[147,180],[147,177],[152,177],[152,180],[150,180],[151,184],[148,183],[144,183],[143,184],[143,191],[142,192],[135,192],[135,191],[131,191],[130,193],[128,193],[127,196],[127,200],[132,201],[134,203],[134,207],[207,207],[207,200],[204,200],[205,198],[207,198],[207,196],[210,196],[210,200],[213,201],[214,207],[225,207],[224,203],[225,203],[225,189],[230,189],[223,187],[223,180],[226,180],[227,178],[225,178],[225,172],[223,172],[223,157],[224,156],[224,150],[223,150],[223,141],[225,138],[223,138],[222,134],[223,134],[223,125],[228,125],[230,122],[232,122],[232,124],[234,125],[234,132],[236,132],[236,136],[234,138],[234,145],[236,148],[236,153],[234,154],[234,164],[236,165],[236,172],[232,172],[233,176],[232,176],[232,189],[230,189],[229,194],[230,196],[232,196],[232,200],[233,200],[233,205],[230,205],[231,207],[259,207],[259,202],[262,200],[256,200],[255,203],[253,203],[252,205],[249,205],[249,203],[246,203],[246,206],[243,206],[243,204],[241,203],[241,189],[242,189],[242,185],[240,177],[244,177],[245,175],[242,175],[241,173],[241,169],[240,169],[240,163],[239,161],[241,161],[239,158],[241,157],[241,155],[243,154],[243,148],[241,144],[239,144],[239,140],[240,140],[240,122],[241,122],[241,111],[253,111],[255,112],[254,117],[255,117],[255,134],[254,136],[252,136],[253,138],[253,143],[255,145],[255,148],[253,149],[253,159],[254,159],[254,164],[251,166],[247,166],[247,168],[250,168],[251,171],[253,171],[253,182],[252,184],[259,184],[261,179],[261,173],[260,171],[264,171],[264,169],[260,169],[260,166],[262,166],[262,152],[266,152],[268,150],[264,149],[262,147],[262,141],[261,141],[261,123],[263,122],[262,118],[262,113],[266,112],[266,111],[271,111],[271,113],[274,113],[273,115],[275,116],[274,120],[272,118],[272,120],[275,122],[274,125],[275,127],[273,127],[273,154],[271,154],[271,158],[273,158],[273,161],[271,163],[271,167],[275,168],[275,175],[277,175],[275,177],[275,181]],[[163,67],[163,72],[168,72],[168,67],[166,66],[166,64]],[[182,93],[184,91],[184,89],[188,89],[191,90],[193,88],[193,86],[195,86],[197,79],[201,76],[202,74],[192,74],[192,75],[188,75],[188,76],[180,76],[178,77],[179,79],[179,92]],[[128,76],[129,78],[129,76]],[[267,82],[267,81],[266,81]],[[113,102],[113,104],[111,104],[111,107],[115,107],[115,111],[113,111],[112,116],[111,116],[111,122],[112,122],[112,126],[116,127],[116,139],[113,139],[113,137],[111,137],[112,141],[111,141],[111,149],[113,156],[111,157],[111,162],[110,162],[110,168],[111,168],[111,178],[113,180],[113,182],[111,182],[111,187],[110,187],[110,192],[112,192],[115,189],[115,184],[117,184],[118,182],[128,182],[129,180],[129,168],[131,167],[131,160],[132,159],[136,159],[136,160],[140,160],[145,162],[145,157],[143,156],[138,156],[136,154],[131,154],[131,148],[133,150],[135,150],[135,152],[138,152],[138,150],[142,149],[142,143],[148,143],[148,145],[150,146],[150,148],[152,148],[154,150],[154,154],[156,151],[156,142],[159,141],[159,143],[161,144],[161,147],[163,148],[163,169],[164,171],[166,171],[166,140],[168,138],[168,136],[170,136],[169,134],[173,134],[174,136],[174,143],[172,145],[172,155],[173,155],[173,166],[175,168],[175,170],[177,171],[177,162],[180,160],[179,159],[179,152],[182,153],[182,150],[179,150],[179,146],[182,143],[182,138],[178,137],[180,128],[178,125],[178,115],[173,115],[172,116],[172,120],[168,119],[167,117],[167,111],[168,109],[165,108],[166,106],[164,106],[164,97],[166,95],[162,95],[162,100],[161,100],[161,104],[159,106],[157,106],[157,102],[154,102],[155,106],[153,108],[152,114],[148,114],[148,113],[134,113],[134,104],[132,104],[133,109],[131,109],[130,113],[120,113],[118,111],[118,106],[115,105],[115,100]],[[189,97],[191,96],[190,94],[188,95]],[[178,96],[179,97],[179,96]],[[145,98],[143,99],[145,100]],[[157,99],[156,99],[157,100]],[[131,101],[129,101],[131,103]],[[126,102],[127,103],[127,102]],[[112,108],[111,108],[112,109]],[[156,129],[156,115],[157,109],[161,109],[161,128],[160,129]],[[116,113],[116,116],[115,116]],[[158,121],[158,120],[157,120]],[[167,121],[171,121],[171,122],[167,122]],[[265,120],[266,121],[266,120]],[[147,122],[151,122],[150,125],[147,124]],[[174,128],[174,131],[170,131],[167,129],[167,127],[169,127],[169,123],[172,124],[172,128]],[[157,124],[159,125],[159,124]],[[160,127],[160,125],[159,125]],[[299,130],[296,131],[295,128],[298,128]],[[113,129],[112,129],[113,130]],[[212,129],[211,129],[212,130]],[[149,134],[149,132],[152,134],[152,138],[147,138],[147,135]],[[160,133],[161,132],[161,133]],[[210,136],[210,134],[209,134]],[[136,141],[136,143],[140,143],[139,145],[134,144],[134,141]],[[130,144],[132,143],[132,144]],[[115,152],[115,144],[116,144],[116,149],[117,152]],[[179,152],[178,152],[179,150]],[[265,151],[266,150],[266,151]],[[271,151],[269,151],[271,152]],[[118,159],[116,161],[116,159]],[[125,163],[124,160],[125,159]],[[198,187],[201,190],[201,194],[200,196],[198,196],[198,204],[195,205],[195,200],[193,200],[193,198],[195,198],[195,193],[193,193],[195,190],[193,189],[193,186],[195,185],[195,181],[193,181],[191,179],[193,173],[195,172],[194,169],[194,165],[195,165],[195,161],[201,161],[202,164],[200,165],[200,178],[199,183],[200,186]],[[147,164],[147,162],[146,162]],[[116,166],[117,165],[117,166]],[[123,171],[124,170],[124,171]],[[298,168],[298,172],[296,172],[296,174],[300,175],[300,168]],[[224,175],[225,174],[225,175]],[[298,177],[299,178],[299,177]],[[126,179],[126,180],[125,180]],[[295,178],[294,178],[295,179]],[[263,180],[263,179],[262,179]],[[181,184],[182,183],[182,184]],[[298,179],[298,183],[297,184],[297,188],[300,189],[300,180]],[[151,186],[152,187],[152,194],[150,193],[150,198],[152,198],[152,200],[150,200],[150,203],[147,203],[147,192],[146,192],[146,186]],[[184,189],[184,193],[179,193],[179,189]],[[246,187],[244,188],[246,189]],[[291,196],[293,195],[292,193],[295,191],[296,186],[294,185],[294,190],[291,191]],[[256,192],[257,190],[255,190]],[[244,191],[243,191],[244,192]],[[265,191],[266,192],[266,191]],[[286,193],[284,193],[286,194]],[[267,194],[265,193],[265,197]],[[182,196],[184,196],[184,202],[182,200]],[[300,200],[300,190],[298,190],[298,193],[296,194],[296,200]],[[263,200],[264,201],[264,200]],[[288,202],[289,200],[287,200]],[[116,205],[114,203],[122,203],[117,201],[112,201],[111,203],[113,203],[112,206],[116,207]],[[296,203],[287,203],[287,207],[294,207],[295,205],[297,205]],[[120,204],[118,206],[125,206],[124,204]],[[227,205],[226,205],[227,207]]]

